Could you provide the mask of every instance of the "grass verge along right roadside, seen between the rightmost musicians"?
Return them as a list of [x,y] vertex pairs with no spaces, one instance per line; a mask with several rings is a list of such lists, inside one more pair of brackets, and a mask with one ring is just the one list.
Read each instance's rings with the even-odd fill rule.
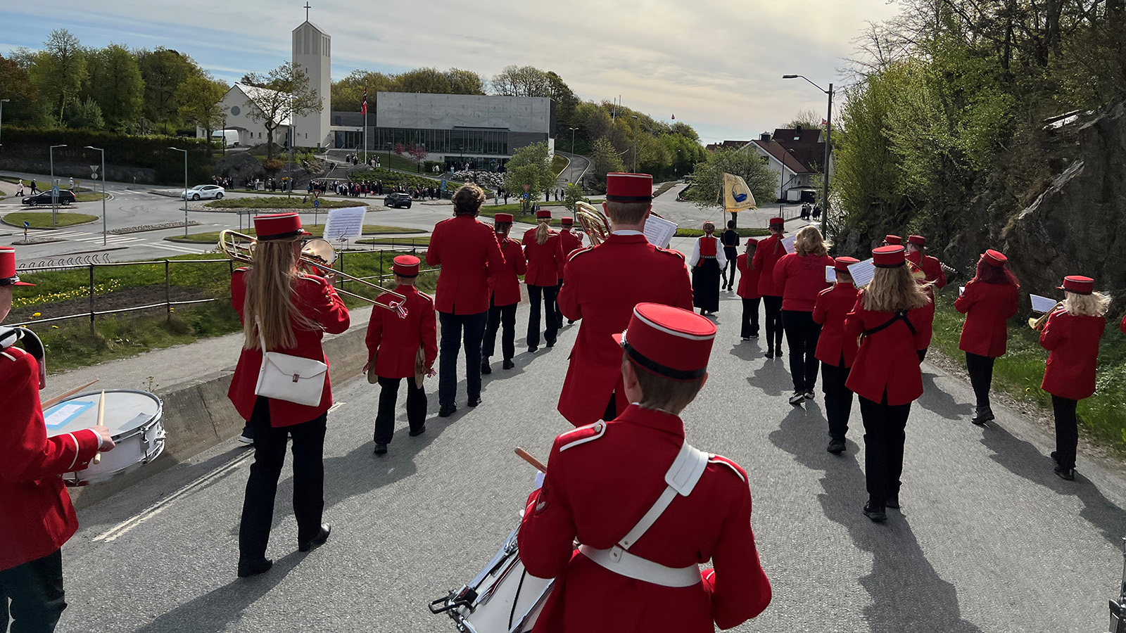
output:
[[[965,367],[966,355],[958,349],[965,316],[954,310],[957,292],[946,292],[936,302],[932,345]],[[993,366],[993,390],[1003,391],[1018,400],[1031,402],[1046,413],[1052,412],[1052,395],[1040,389],[1047,350],[1039,345],[1039,332],[1026,323],[1027,314],[1009,322],[1009,344],[1004,356]],[[1079,402],[1080,426],[1100,444],[1126,452],[1126,338],[1118,332],[1118,320],[1107,319],[1107,329],[1099,348],[1099,367],[1094,395]]]

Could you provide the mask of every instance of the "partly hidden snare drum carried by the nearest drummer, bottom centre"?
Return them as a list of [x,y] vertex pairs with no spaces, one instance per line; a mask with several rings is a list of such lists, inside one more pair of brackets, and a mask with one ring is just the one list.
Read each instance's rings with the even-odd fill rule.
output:
[[447,613],[463,633],[525,633],[531,631],[555,583],[524,569],[516,543],[517,527],[500,551],[468,585],[430,603],[432,613]]

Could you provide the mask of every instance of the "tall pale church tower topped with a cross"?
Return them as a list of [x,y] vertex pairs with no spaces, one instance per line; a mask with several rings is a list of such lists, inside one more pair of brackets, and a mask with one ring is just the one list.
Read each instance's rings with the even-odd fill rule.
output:
[[296,117],[294,132],[298,148],[331,148],[332,37],[309,21],[293,29],[293,63],[309,78],[309,86],[321,97],[321,112]]

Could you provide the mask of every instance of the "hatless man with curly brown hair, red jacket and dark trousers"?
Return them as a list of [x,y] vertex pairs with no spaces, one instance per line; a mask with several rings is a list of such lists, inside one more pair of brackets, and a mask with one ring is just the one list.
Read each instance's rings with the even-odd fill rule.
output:
[[470,407],[481,404],[481,341],[489,315],[489,275],[501,268],[497,235],[477,221],[485,194],[476,185],[463,185],[454,194],[454,217],[443,220],[430,234],[426,262],[441,266],[435,305],[441,322],[438,351],[438,417],[454,414],[457,407],[457,354],[465,344],[465,386]]

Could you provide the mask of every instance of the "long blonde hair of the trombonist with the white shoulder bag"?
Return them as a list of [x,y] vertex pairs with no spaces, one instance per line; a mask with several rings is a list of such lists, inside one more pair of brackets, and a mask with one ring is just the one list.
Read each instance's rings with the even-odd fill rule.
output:
[[258,327],[261,323],[266,348],[288,349],[297,345],[293,324],[315,330],[312,319],[302,314],[293,303],[293,285],[297,278],[297,262],[292,241],[268,241],[254,244],[254,265],[247,271],[247,296],[242,304],[242,347],[257,349]]

